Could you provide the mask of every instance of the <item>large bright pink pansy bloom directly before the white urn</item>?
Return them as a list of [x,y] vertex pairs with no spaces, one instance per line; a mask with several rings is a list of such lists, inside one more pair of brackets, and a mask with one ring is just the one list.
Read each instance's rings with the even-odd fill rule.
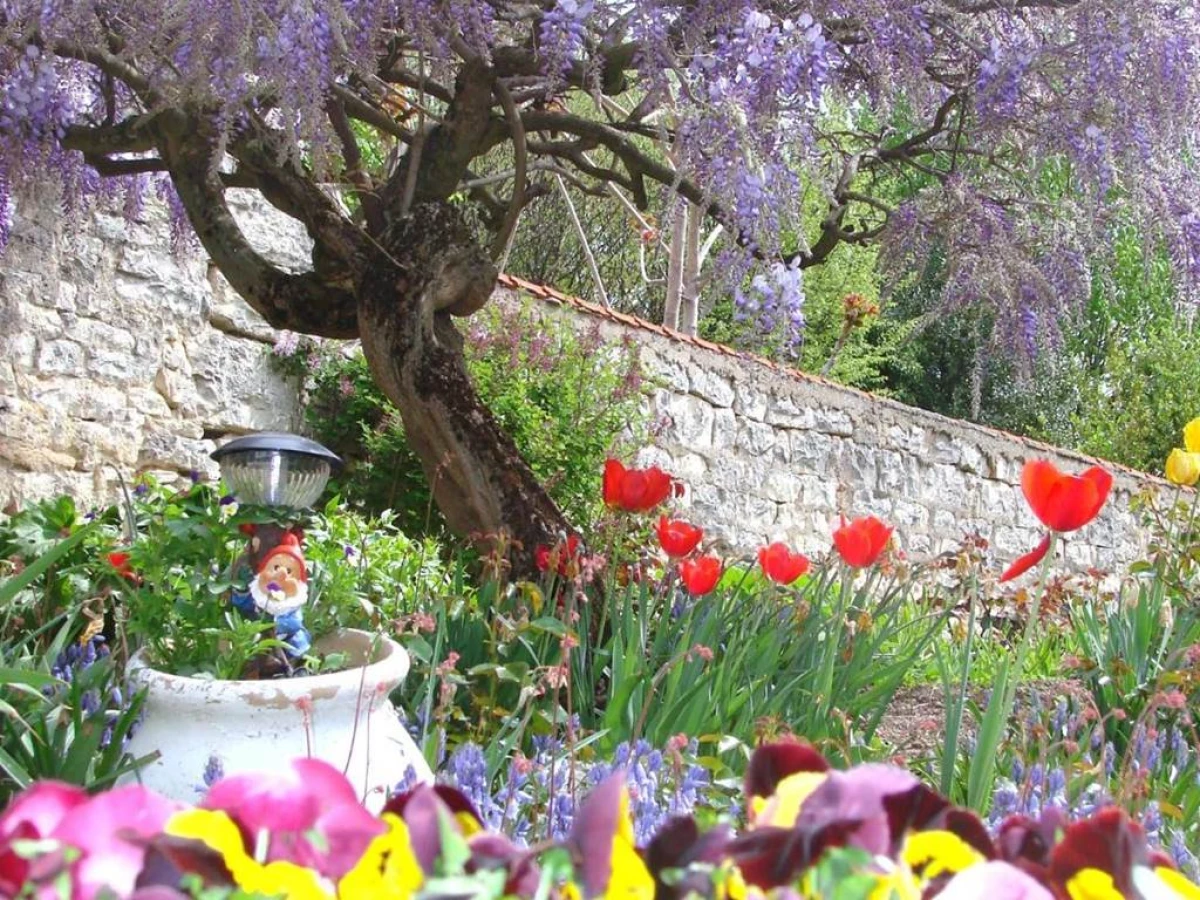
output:
[[[269,832],[269,859],[312,866],[331,878],[353,869],[371,840],[385,830],[359,803],[346,776],[320,760],[230,775],[215,784],[200,805],[228,812],[247,835]],[[319,841],[310,840],[312,832]]]

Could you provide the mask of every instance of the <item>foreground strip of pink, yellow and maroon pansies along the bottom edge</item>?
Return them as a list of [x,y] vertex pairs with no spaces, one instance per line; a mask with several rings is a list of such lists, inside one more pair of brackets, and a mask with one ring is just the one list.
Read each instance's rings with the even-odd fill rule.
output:
[[486,830],[455,788],[418,786],[376,817],[312,760],[221,780],[197,806],[142,787],[88,797],[43,782],[0,816],[0,890],[80,900],[1200,896],[1118,810],[1072,823],[1056,811],[1015,815],[989,834],[905,769],[830,769],[802,743],[755,752],[740,833],[679,816],[638,851],[629,786],[624,773],[604,779],[565,834],[526,850]]

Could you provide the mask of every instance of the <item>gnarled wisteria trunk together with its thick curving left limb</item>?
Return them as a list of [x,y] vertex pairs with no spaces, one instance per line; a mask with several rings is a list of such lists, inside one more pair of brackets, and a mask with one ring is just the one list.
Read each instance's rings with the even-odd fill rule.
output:
[[234,289],[275,328],[360,338],[446,522],[476,544],[515,541],[514,572],[530,571],[536,545],[569,526],[467,373],[450,317],[482,307],[497,272],[458,211],[422,200],[367,238],[269,144],[241,137],[230,151],[314,241],[313,271],[284,272],[251,247],[226,204],[214,124],[176,110],[157,130],[188,218]]

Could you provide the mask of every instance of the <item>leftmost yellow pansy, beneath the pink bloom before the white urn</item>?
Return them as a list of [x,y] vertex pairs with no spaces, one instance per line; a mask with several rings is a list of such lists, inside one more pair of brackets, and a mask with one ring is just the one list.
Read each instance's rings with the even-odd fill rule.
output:
[[264,864],[250,856],[238,826],[221,810],[176,812],[163,830],[174,838],[200,841],[220,853],[234,883],[247,894],[282,900],[334,900],[334,894],[311,869],[282,860]]

